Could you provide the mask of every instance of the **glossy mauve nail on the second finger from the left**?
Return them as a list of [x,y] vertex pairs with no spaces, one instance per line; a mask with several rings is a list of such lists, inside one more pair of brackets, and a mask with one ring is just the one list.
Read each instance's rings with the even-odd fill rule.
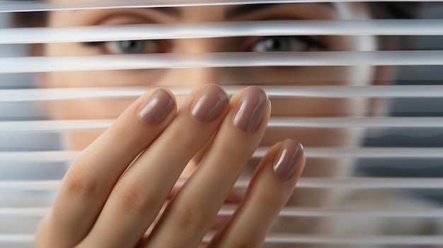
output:
[[191,114],[200,122],[211,122],[224,110],[229,99],[218,85],[210,84],[200,90],[191,107]]

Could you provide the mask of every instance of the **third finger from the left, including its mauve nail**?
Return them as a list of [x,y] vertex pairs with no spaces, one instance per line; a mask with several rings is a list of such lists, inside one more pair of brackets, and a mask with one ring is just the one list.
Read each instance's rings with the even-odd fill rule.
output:
[[269,99],[259,88],[244,89],[231,104],[234,111],[224,119],[192,177],[168,203],[144,247],[197,247],[205,236],[258,147],[270,115]]

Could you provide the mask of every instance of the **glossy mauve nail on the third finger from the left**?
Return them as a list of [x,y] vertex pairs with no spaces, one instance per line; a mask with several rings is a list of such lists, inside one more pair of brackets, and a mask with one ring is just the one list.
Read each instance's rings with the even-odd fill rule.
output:
[[265,114],[268,101],[262,89],[253,86],[245,88],[234,113],[234,126],[248,133],[255,131]]

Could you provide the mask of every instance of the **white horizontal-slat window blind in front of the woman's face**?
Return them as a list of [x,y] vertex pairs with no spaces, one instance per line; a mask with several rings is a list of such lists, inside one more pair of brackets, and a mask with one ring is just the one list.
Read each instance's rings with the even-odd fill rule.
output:
[[[156,8],[166,6],[234,6],[244,4],[302,4],[325,1],[0,1],[0,13],[11,18],[13,13],[33,11],[67,11],[115,8]],[[361,1],[333,0],[332,4]],[[370,1],[385,2],[385,1]],[[401,1],[390,1],[393,3]],[[422,2],[422,1],[420,1]],[[357,195],[348,201],[323,206],[287,206],[280,218],[336,220],[340,228],[333,232],[295,232],[290,228],[272,231],[266,245],[296,244],[364,247],[441,247],[443,244],[443,98],[441,66],[443,5],[438,1],[423,3],[421,18],[413,20],[254,20],[234,22],[88,25],[82,27],[0,29],[0,47],[52,43],[108,42],[120,40],[186,40],[224,39],[229,37],[396,37],[414,45],[406,48],[372,50],[364,47],[347,51],[309,52],[173,52],[164,54],[88,54],[67,56],[28,56],[23,51],[10,56],[0,54],[0,247],[32,247],[33,232],[42,215],[49,211],[67,165],[81,150],[64,147],[63,136],[70,131],[103,131],[112,118],[57,119],[45,112],[48,102],[69,100],[127,100],[142,95],[156,85],[103,85],[92,87],[38,87],[33,73],[85,71],[142,71],[146,69],[261,70],[278,68],[342,68],[357,66],[396,66],[396,78],[386,78],[381,85],[340,85],[340,78],[309,78],[309,85],[293,83],[288,78],[267,78],[259,84],[278,100],[388,100],[388,114],[346,116],[342,112],[324,110],[317,116],[286,114],[272,116],[272,130],[347,130],[361,142],[341,146],[306,146],[306,158],[313,163],[323,160],[323,167],[338,164],[352,173],[339,177],[313,175],[302,177],[297,189],[327,189],[335,194]],[[439,11],[435,11],[438,9]],[[433,12],[434,11],[434,12]],[[437,13],[437,16],[432,16]],[[440,18],[440,19],[439,19]],[[5,23],[7,23],[5,21]],[[434,41],[428,42],[428,41]],[[437,44],[437,45],[436,45]],[[389,47],[389,46],[388,46]],[[6,48],[8,50],[10,48]],[[22,76],[25,76],[24,78]],[[294,75],[292,75],[294,76]],[[20,77],[20,80],[17,78]],[[358,77],[357,77],[358,78]],[[363,79],[357,79],[362,80]],[[18,83],[16,83],[16,81]],[[226,80],[229,81],[229,80]],[[393,82],[393,83],[389,83]],[[323,85],[322,85],[323,83]],[[380,83],[380,82],[379,82]],[[222,83],[230,95],[254,81]],[[185,96],[192,86],[166,85],[175,95]],[[43,106],[43,107],[40,107]],[[411,107],[412,106],[412,107]],[[284,114],[283,114],[284,115]],[[313,114],[315,115],[315,114]],[[319,134],[320,135],[320,134]],[[297,138],[297,137],[295,137]],[[260,146],[253,159],[262,158],[269,147]],[[335,164],[334,164],[335,166]],[[238,179],[236,188],[246,188],[249,177]],[[178,184],[183,184],[178,182]],[[369,194],[367,194],[369,192]],[[372,193],[371,193],[372,192]],[[368,204],[385,194],[399,197],[394,203]],[[360,196],[361,194],[361,196]],[[219,215],[231,215],[235,205],[225,204]],[[395,223],[381,225],[398,228],[411,225],[420,232],[396,232],[383,228],[356,234],[352,227],[359,221]],[[432,222],[432,230],[420,228],[423,220]],[[345,223],[345,224],[343,224]],[[406,223],[406,224],[405,224]],[[368,224],[369,225],[369,224]],[[371,224],[372,225],[372,224]],[[413,225],[416,225],[415,227]],[[343,228],[345,226],[345,228]],[[347,228],[346,228],[347,227]],[[343,228],[343,230],[342,230]],[[350,229],[350,230],[349,230]],[[205,239],[213,233],[208,232]]]

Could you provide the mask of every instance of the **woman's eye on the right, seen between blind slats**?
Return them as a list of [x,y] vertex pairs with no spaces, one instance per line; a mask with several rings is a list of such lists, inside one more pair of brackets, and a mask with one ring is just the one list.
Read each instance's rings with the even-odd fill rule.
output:
[[249,46],[250,52],[310,52],[327,49],[321,40],[309,36],[261,37]]

